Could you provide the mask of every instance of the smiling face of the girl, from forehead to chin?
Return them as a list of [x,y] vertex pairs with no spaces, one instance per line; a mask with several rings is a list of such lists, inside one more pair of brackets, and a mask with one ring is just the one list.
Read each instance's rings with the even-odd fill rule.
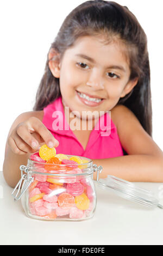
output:
[[106,45],[97,36],[78,38],[59,64],[64,106],[77,111],[80,117],[82,111],[97,111],[99,115],[101,111],[111,111],[137,83],[129,81],[130,69],[124,52],[118,41]]

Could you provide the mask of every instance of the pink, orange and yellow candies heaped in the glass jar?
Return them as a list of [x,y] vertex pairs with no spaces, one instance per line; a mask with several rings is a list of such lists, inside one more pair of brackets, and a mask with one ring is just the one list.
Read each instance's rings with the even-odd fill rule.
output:
[[56,155],[55,148],[50,149],[46,144],[30,159],[41,163],[40,166],[37,164],[39,173],[34,174],[34,181],[28,190],[29,211],[32,215],[55,220],[62,216],[81,219],[92,214],[95,194],[89,179],[82,175],[82,169],[86,168],[82,164],[89,161],[78,156],[68,159],[64,154]]

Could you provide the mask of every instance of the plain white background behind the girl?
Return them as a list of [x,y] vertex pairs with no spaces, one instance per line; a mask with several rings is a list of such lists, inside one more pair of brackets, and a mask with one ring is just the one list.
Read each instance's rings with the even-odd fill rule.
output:
[[[0,2],[1,147],[0,169],[5,142],[16,117],[32,111],[47,53],[65,17],[79,0],[5,0]],[[127,5],[148,38],[151,63],[153,139],[163,150],[162,139],[162,0],[117,0]]]

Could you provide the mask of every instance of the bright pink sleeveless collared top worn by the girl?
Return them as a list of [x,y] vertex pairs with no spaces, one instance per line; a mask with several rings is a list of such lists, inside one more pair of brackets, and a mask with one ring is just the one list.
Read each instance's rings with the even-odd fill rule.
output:
[[[59,146],[56,148],[57,154],[85,156],[89,159],[107,159],[123,156],[123,149],[116,126],[108,113],[105,113],[99,118],[90,133],[89,141],[84,150],[65,118],[61,96],[43,108],[43,112],[42,123],[59,141]],[[105,125],[106,121],[107,125]]]

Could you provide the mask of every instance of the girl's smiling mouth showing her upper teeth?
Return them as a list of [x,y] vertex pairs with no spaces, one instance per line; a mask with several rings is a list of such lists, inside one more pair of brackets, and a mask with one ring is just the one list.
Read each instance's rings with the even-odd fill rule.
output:
[[104,99],[89,97],[88,95],[86,95],[84,93],[80,93],[78,91],[76,91],[76,93],[77,93],[80,101],[82,101],[82,103],[84,103],[87,106],[96,107],[104,101]]

